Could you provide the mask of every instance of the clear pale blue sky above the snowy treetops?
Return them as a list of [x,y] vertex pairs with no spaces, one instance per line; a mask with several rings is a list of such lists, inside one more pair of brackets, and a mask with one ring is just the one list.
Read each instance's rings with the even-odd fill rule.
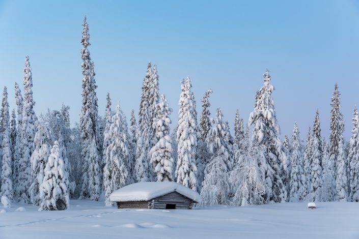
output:
[[[330,97],[338,82],[345,137],[359,105],[358,1],[0,1],[0,87],[22,83],[25,54],[33,68],[35,111],[81,108],[80,39],[87,15],[99,113],[108,91],[129,118],[138,112],[147,63],[158,66],[160,92],[177,122],[180,79],[189,75],[200,100],[213,89],[233,129],[237,108],[247,121],[268,68],[282,135],[298,122],[301,137],[319,108],[329,134]],[[115,106],[114,106],[115,107]]]

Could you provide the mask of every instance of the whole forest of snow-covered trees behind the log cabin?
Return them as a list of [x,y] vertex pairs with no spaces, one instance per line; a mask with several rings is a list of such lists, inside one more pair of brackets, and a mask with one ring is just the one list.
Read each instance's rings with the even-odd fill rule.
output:
[[120,103],[113,107],[109,94],[105,114],[99,113],[86,17],[82,25],[78,124],[70,125],[66,105],[35,114],[29,56],[23,87],[15,83],[12,110],[4,87],[1,197],[32,203],[39,211],[66,210],[69,199],[78,198],[104,200],[111,206],[109,195],[128,184],[174,181],[201,194],[197,206],[359,201],[359,114],[354,107],[347,142],[337,84],[330,104],[328,141],[321,136],[318,110],[313,112],[313,126],[304,143],[297,123],[292,136],[281,139],[268,70],[247,124],[238,110],[233,115],[233,136],[220,108],[212,114],[209,110],[215,91],[204,93],[198,114],[189,77],[179,85],[178,122],[171,121],[173,111],[160,94],[157,66],[151,63],[143,79],[137,118],[132,110],[127,122]]

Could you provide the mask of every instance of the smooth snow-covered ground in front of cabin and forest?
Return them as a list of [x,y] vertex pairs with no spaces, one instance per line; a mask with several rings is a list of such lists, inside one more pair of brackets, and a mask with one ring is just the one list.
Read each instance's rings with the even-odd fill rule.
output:
[[[103,205],[71,200],[69,210],[61,212],[0,206],[0,238],[359,238],[359,203],[354,202],[317,203],[315,210],[307,203],[194,210]],[[25,211],[15,212],[19,206]]]

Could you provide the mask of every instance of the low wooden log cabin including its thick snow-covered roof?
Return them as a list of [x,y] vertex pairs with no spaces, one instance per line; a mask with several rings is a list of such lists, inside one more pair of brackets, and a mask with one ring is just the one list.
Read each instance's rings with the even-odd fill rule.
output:
[[110,195],[118,208],[192,209],[200,195],[175,182],[136,183]]

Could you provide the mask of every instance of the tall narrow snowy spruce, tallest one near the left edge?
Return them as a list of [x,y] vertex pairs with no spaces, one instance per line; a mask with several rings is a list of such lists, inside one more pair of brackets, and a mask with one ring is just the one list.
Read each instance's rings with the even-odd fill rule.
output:
[[25,57],[24,68],[24,100],[22,109],[22,126],[21,126],[21,143],[19,158],[19,177],[18,185],[16,188],[16,195],[18,201],[30,203],[29,188],[31,185],[31,155],[34,151],[34,138],[35,138],[35,112],[33,100],[33,80],[32,72],[29,62],[29,56]]

